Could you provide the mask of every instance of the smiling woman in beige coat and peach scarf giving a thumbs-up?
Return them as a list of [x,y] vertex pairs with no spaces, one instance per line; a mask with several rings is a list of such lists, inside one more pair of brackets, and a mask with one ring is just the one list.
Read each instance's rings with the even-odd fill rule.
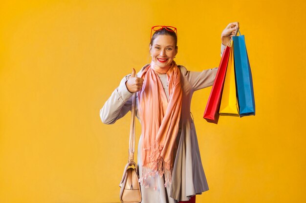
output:
[[[113,124],[131,110],[136,92],[136,117],[142,127],[137,157],[142,203],[195,203],[195,195],[209,188],[191,118],[191,98],[194,91],[213,85],[218,69],[191,72],[176,65],[176,28],[152,29],[151,63],[137,74],[132,69],[122,79],[100,117]],[[239,23],[234,22],[223,30],[221,55],[237,29]]]

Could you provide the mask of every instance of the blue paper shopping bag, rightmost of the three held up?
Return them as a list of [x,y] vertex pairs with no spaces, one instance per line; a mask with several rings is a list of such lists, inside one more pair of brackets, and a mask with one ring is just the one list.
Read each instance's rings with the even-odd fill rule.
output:
[[233,36],[233,42],[236,88],[240,117],[255,115],[253,80],[244,35]]

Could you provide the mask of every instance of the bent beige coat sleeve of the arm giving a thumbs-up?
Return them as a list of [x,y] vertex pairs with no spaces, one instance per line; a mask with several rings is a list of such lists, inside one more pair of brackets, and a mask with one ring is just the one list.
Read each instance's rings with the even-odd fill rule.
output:
[[128,91],[125,84],[130,76],[131,74],[121,80],[119,87],[112,92],[100,110],[100,118],[104,124],[113,124],[131,111],[132,93]]

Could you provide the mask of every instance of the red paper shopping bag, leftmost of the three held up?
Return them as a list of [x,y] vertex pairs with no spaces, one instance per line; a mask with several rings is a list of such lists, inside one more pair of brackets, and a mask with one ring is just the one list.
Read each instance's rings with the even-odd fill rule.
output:
[[225,80],[230,49],[231,48],[229,46],[226,46],[225,51],[223,52],[217,75],[213,84],[213,88],[210,92],[208,102],[206,104],[206,109],[203,118],[205,118],[206,121],[211,123],[217,123],[219,119],[222,89]]

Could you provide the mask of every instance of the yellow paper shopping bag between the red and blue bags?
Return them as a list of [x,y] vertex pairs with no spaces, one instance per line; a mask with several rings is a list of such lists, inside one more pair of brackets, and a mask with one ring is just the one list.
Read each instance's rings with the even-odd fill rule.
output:
[[239,116],[239,108],[236,96],[236,81],[234,70],[234,44],[231,41],[231,50],[227,64],[227,71],[225,75],[225,81],[223,86],[220,115]]

